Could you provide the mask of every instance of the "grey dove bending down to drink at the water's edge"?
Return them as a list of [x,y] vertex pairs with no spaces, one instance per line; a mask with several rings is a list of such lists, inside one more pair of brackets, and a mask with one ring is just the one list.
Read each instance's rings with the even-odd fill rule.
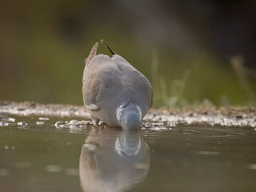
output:
[[86,58],[82,78],[83,102],[94,124],[99,120],[123,130],[138,130],[152,106],[152,86],[148,79],[126,59],[111,52],[97,54],[96,42]]

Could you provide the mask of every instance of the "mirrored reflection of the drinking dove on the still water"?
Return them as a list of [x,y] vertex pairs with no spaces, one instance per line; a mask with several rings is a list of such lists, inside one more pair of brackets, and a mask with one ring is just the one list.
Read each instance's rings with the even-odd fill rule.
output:
[[79,162],[84,191],[126,191],[142,182],[150,168],[150,149],[139,133],[90,134]]

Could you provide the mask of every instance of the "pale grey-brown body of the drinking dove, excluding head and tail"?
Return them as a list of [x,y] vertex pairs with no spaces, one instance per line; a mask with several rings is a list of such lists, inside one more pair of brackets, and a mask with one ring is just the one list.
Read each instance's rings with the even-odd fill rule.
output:
[[152,105],[152,88],[147,78],[115,54],[112,58],[98,54],[86,64],[82,78],[82,94],[85,106],[92,118],[110,126],[120,126],[116,117],[118,106],[134,103],[142,110],[142,116]]

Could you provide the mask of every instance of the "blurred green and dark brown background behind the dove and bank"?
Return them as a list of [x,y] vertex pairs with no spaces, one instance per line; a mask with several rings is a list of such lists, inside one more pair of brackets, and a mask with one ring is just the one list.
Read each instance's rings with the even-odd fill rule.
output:
[[0,100],[82,105],[83,60],[104,38],[155,107],[255,105],[254,0],[1,0],[0,25]]

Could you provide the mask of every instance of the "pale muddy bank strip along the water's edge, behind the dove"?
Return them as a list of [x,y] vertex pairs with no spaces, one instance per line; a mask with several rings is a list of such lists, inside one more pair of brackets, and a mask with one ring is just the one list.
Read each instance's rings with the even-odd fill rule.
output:
[[[0,101],[1,114],[22,116],[43,115],[55,117],[78,117],[89,119],[84,106],[41,104],[38,102],[6,102]],[[205,124],[210,126],[250,126],[256,127],[256,107],[220,107],[217,108],[208,101],[202,102],[198,109],[183,108],[181,110],[158,109],[150,110],[142,127],[164,126],[169,128],[178,124]]]

